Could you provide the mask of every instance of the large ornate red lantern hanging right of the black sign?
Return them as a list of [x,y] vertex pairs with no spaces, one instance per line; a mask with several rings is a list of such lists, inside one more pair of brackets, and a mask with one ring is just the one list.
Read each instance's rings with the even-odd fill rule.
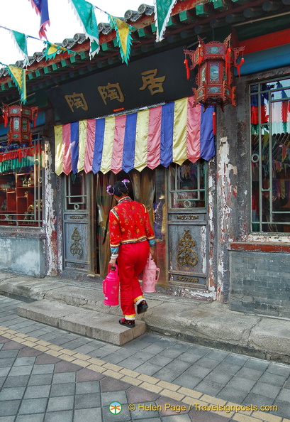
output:
[[[245,47],[230,48],[230,36],[223,43],[211,41],[205,44],[199,38],[199,47],[184,50],[187,60],[191,60],[190,70],[198,67],[196,75],[197,89],[194,91],[194,107],[199,102],[204,108],[216,105],[223,110],[225,104],[235,106],[235,87],[233,82],[233,66],[237,67],[237,58]],[[243,61],[243,59],[242,59]]]

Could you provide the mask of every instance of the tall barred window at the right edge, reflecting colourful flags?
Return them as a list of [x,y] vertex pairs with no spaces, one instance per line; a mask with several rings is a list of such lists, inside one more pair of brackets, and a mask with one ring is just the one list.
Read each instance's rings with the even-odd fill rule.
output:
[[290,232],[290,79],[250,86],[252,231]]

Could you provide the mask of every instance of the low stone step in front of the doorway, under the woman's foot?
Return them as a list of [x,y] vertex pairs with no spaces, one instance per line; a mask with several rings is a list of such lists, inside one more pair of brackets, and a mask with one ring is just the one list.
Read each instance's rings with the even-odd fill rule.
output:
[[135,320],[134,328],[123,327],[116,315],[96,312],[57,301],[35,301],[18,306],[17,313],[23,318],[38,321],[79,335],[122,346],[144,334],[146,324]]

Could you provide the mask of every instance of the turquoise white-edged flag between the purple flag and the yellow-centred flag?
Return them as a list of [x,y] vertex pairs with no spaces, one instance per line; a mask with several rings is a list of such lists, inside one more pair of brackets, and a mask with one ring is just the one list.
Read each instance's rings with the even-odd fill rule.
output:
[[99,53],[99,31],[98,24],[96,23],[96,15],[94,13],[94,6],[86,0],[69,0],[72,9],[76,14],[79,23],[84,28],[84,33],[91,41],[89,50],[90,58]]

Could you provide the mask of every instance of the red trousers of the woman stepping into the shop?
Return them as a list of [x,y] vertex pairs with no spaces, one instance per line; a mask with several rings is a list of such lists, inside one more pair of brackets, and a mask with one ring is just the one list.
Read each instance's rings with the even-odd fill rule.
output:
[[121,244],[118,255],[120,277],[120,298],[123,315],[134,318],[135,302],[143,297],[138,275],[145,268],[149,255],[147,240],[138,243]]

